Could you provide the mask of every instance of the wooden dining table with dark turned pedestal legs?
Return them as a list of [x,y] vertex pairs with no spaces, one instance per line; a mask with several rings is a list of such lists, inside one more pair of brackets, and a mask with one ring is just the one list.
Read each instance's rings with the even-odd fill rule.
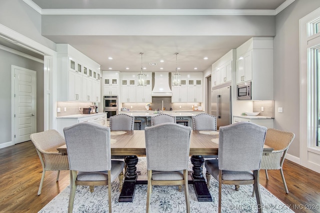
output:
[[[192,171],[189,172],[188,183],[193,184],[198,201],[212,201],[203,177],[203,155],[218,154],[218,132],[191,130],[190,151]],[[126,173],[119,196],[119,202],[132,202],[136,184],[147,184],[145,175],[138,175],[136,164],[138,156],[145,156],[144,130],[111,131],[111,155],[126,156]],[[62,154],[67,154],[66,146],[57,148]],[[263,154],[268,154],[272,147],[264,145]],[[172,159],[173,160],[173,159]]]

